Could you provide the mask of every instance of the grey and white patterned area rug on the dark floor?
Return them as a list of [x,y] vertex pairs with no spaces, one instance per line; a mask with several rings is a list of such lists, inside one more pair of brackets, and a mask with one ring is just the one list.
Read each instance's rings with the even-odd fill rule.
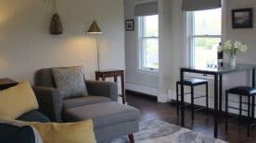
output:
[[[140,131],[134,134],[135,143],[226,143],[160,120],[142,121],[139,127]],[[121,137],[111,143],[129,143],[129,139]]]

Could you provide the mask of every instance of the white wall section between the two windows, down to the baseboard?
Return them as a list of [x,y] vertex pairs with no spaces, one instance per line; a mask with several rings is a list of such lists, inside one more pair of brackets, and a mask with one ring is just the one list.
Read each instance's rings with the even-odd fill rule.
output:
[[185,64],[185,15],[180,0],[159,0],[160,82],[159,101],[170,101],[179,79],[179,67]]

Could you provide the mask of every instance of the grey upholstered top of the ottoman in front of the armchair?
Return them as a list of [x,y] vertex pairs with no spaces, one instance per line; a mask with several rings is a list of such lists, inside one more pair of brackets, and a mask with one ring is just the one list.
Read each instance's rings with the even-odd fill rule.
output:
[[67,122],[83,121],[92,118],[95,129],[117,125],[139,119],[139,111],[132,106],[117,102],[96,103],[82,107],[70,108],[63,113]]

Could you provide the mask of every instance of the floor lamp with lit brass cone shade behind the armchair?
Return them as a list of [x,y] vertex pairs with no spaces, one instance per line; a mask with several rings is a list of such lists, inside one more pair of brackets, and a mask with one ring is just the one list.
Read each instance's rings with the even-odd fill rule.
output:
[[98,27],[96,20],[94,20],[94,22],[91,24],[89,30],[87,30],[88,34],[96,34],[96,59],[97,59],[97,70],[99,71],[99,44],[98,44],[98,34],[101,34],[102,31],[100,30],[100,28]]

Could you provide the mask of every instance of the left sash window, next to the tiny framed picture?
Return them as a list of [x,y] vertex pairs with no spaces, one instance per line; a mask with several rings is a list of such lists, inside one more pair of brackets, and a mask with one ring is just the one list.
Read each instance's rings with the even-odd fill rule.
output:
[[159,69],[159,16],[139,17],[139,68]]

